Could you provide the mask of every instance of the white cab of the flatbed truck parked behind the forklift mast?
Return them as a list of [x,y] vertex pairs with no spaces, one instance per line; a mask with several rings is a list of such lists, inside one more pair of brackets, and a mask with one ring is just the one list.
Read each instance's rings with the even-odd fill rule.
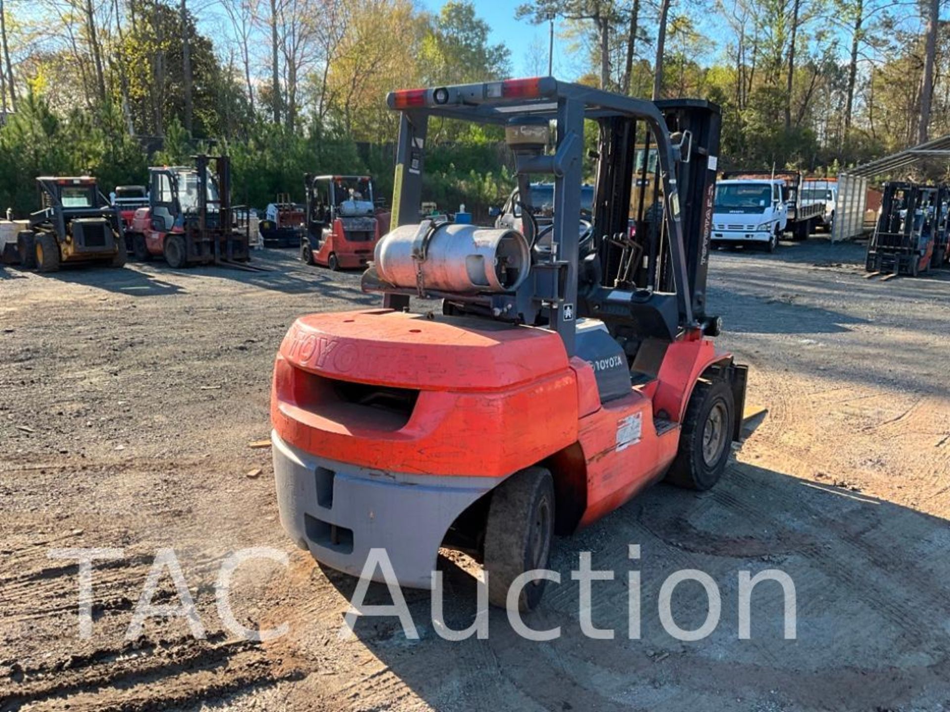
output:
[[774,252],[788,227],[788,201],[784,180],[718,181],[712,209],[712,242],[753,244]]

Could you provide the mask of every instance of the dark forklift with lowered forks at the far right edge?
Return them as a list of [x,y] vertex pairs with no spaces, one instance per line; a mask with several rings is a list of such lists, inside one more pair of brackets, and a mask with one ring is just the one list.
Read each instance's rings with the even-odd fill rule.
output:
[[916,277],[947,258],[946,186],[891,181],[883,184],[881,212],[867,243],[869,276],[886,272]]

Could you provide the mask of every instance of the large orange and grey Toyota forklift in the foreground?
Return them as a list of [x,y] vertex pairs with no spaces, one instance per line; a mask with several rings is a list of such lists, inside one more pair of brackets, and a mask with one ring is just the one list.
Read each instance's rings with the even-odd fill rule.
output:
[[[553,534],[660,479],[711,488],[740,438],[747,366],[714,346],[706,304],[719,108],[552,77],[387,101],[400,112],[393,213],[362,280],[382,305],[301,316],[279,348],[280,521],[353,575],[384,548],[407,587],[431,587],[440,546],[461,550],[493,605],[532,609],[544,580],[516,579],[546,567]],[[521,195],[553,177],[552,222],[534,224],[530,205],[522,231],[418,222],[430,118],[504,127]],[[585,124],[597,180],[579,230]],[[656,193],[638,203],[658,202],[659,219],[637,210],[632,231],[650,170],[637,154],[651,150]]]

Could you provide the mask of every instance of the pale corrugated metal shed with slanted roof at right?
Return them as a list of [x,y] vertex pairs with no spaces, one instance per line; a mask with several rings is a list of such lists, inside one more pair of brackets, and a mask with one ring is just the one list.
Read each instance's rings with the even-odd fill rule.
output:
[[839,173],[831,239],[846,240],[864,233],[867,183],[871,178],[903,178],[902,169],[941,158],[950,160],[950,134]]

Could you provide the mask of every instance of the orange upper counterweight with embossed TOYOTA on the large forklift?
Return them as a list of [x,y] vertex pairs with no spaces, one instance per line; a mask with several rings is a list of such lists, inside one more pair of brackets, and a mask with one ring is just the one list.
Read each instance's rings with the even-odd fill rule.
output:
[[[283,440],[364,467],[498,477],[577,440],[576,376],[558,335],[389,309],[310,314],[277,355]],[[473,457],[473,439],[485,448]]]

